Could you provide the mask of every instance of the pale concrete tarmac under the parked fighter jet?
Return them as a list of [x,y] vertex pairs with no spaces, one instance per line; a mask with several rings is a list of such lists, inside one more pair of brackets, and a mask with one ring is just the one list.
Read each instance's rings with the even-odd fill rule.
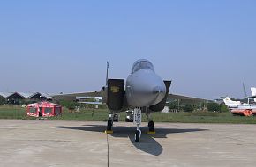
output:
[[132,123],[0,120],[0,167],[246,167],[256,165],[256,125],[155,123],[134,142]]

